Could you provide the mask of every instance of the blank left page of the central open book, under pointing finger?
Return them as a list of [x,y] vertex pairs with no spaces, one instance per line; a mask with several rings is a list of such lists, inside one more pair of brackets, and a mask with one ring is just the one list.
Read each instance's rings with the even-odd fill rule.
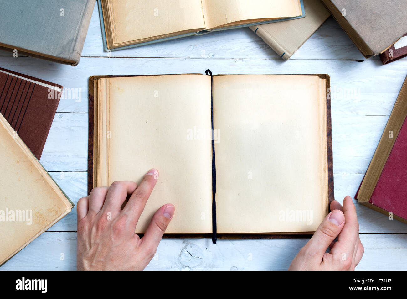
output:
[[210,77],[164,75],[109,78],[109,185],[159,179],[140,221],[142,233],[163,204],[175,205],[166,233],[212,232],[211,139],[188,134],[211,128]]

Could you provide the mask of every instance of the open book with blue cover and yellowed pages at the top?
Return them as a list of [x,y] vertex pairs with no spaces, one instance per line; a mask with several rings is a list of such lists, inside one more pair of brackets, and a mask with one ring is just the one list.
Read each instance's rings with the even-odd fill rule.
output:
[[100,0],[105,51],[305,16],[302,0]]

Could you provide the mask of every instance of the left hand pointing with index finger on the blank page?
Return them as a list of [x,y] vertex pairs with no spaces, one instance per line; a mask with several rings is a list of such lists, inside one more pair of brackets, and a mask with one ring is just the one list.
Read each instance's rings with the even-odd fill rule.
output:
[[175,211],[172,204],[165,204],[155,212],[142,238],[134,233],[157,179],[157,170],[151,169],[140,186],[113,182],[78,201],[78,270],[143,270],[149,264]]

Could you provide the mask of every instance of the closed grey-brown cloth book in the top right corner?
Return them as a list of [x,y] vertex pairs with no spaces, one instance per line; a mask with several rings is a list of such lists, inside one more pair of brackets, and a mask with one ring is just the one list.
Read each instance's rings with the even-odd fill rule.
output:
[[407,32],[405,0],[322,0],[366,57],[379,55]]

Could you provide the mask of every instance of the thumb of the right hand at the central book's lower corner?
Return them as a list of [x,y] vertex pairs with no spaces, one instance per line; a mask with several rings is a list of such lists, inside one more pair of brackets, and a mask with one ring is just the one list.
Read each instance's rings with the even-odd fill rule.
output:
[[321,258],[328,246],[339,235],[345,223],[345,215],[340,210],[330,212],[321,224],[319,224],[314,235],[304,246],[304,250],[311,256]]

